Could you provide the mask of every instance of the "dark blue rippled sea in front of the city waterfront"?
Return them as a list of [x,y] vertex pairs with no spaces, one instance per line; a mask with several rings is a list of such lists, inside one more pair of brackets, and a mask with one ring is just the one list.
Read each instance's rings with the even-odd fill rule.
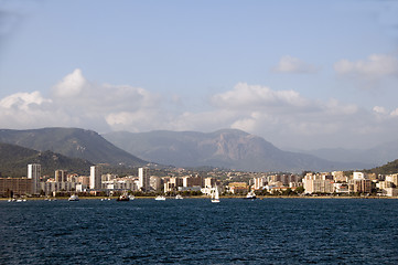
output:
[[398,200],[0,201],[0,264],[398,264]]

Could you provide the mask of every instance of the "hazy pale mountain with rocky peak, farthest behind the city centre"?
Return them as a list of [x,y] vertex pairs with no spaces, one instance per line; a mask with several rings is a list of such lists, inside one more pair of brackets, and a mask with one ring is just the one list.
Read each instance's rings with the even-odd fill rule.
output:
[[263,138],[237,129],[214,132],[109,132],[105,139],[146,160],[176,167],[222,167],[246,171],[338,170],[364,163],[332,162],[306,153],[282,151]]

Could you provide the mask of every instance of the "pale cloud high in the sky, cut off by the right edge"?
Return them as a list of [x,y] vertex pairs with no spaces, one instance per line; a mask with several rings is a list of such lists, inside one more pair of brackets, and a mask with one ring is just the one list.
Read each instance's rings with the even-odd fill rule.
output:
[[340,75],[365,80],[386,76],[398,77],[398,59],[395,55],[373,54],[366,61],[351,62],[348,60],[341,60],[334,64],[334,70]]

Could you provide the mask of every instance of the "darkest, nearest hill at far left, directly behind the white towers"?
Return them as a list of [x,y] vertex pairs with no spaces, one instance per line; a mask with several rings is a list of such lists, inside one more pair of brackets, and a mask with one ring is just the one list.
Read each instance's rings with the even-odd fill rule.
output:
[[36,151],[33,149],[0,142],[0,172],[2,177],[26,176],[29,163],[42,165],[42,174],[53,176],[56,169],[64,169],[75,173],[88,173],[92,162],[68,158],[52,151]]

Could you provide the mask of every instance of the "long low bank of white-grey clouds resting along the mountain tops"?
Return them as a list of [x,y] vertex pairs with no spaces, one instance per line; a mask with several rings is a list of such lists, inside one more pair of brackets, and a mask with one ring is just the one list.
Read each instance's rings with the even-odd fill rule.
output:
[[[377,70],[366,65],[348,63],[342,68]],[[391,128],[398,127],[398,108],[373,106],[367,110],[333,98],[311,99],[293,89],[275,91],[247,83],[209,96],[202,103],[207,109],[203,112],[182,107],[172,98],[175,95],[169,98],[142,87],[96,84],[87,81],[80,70],[62,78],[49,95],[15,93],[1,98],[0,124],[12,129],[61,126],[99,132],[237,128],[277,146],[297,148],[372,145],[395,138]]]

